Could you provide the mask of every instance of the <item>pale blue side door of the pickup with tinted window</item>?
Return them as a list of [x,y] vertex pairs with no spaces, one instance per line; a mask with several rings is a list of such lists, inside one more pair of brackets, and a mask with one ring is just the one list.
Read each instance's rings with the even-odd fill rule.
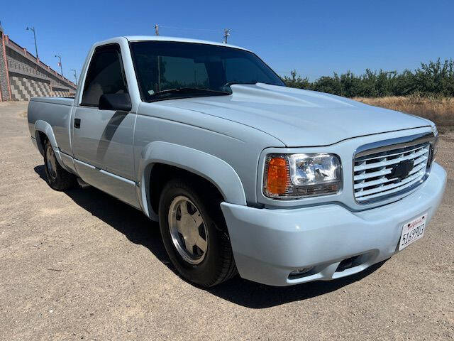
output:
[[103,94],[128,93],[118,44],[96,48],[73,121],[72,151],[81,178],[131,205],[136,204],[133,159],[135,114],[100,110]]

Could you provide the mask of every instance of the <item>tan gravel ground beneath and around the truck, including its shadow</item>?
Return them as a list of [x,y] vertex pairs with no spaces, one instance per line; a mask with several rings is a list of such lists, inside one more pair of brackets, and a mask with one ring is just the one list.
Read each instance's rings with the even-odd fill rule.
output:
[[0,103],[1,340],[448,340],[454,337],[454,134],[448,186],[419,242],[337,281],[203,290],[157,224],[93,188],[45,183],[24,102]]

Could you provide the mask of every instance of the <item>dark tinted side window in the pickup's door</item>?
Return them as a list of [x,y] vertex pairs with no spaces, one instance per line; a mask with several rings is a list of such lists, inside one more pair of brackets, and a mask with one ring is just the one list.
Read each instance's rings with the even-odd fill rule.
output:
[[120,48],[115,45],[97,48],[90,62],[81,105],[98,107],[103,94],[126,94]]

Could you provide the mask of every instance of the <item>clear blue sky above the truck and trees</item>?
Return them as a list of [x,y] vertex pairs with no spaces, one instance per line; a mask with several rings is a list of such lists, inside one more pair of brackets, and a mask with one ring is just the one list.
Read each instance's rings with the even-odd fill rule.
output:
[[253,50],[280,75],[311,80],[333,71],[404,70],[454,58],[454,1],[6,1],[6,34],[57,70],[80,72],[90,45],[113,36],[222,40]]

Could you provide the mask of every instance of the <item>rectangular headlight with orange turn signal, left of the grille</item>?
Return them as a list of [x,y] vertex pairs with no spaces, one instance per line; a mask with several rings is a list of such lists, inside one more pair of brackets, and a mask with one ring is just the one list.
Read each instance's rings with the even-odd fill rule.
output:
[[275,199],[298,199],[338,193],[341,161],[328,153],[269,154],[263,193]]

